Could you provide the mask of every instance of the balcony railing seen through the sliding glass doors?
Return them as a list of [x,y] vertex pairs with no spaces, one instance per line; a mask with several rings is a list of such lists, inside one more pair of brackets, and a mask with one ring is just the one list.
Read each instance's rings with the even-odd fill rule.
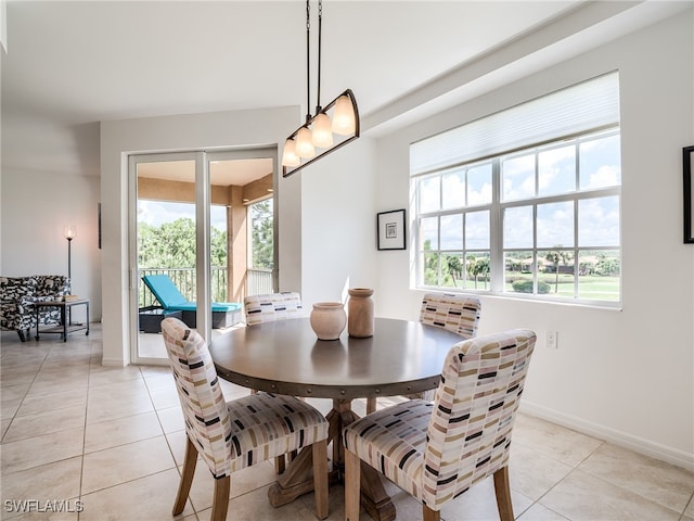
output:
[[[168,275],[174,284],[190,302],[195,302],[195,269],[194,268],[149,268],[140,269],[139,279],[145,275]],[[226,267],[213,267],[211,269],[211,297],[214,302],[227,301],[227,279],[228,269]],[[271,269],[248,269],[246,270],[246,294],[259,295],[272,293],[272,270]],[[138,307],[157,306],[159,303],[150,289],[139,285]]]

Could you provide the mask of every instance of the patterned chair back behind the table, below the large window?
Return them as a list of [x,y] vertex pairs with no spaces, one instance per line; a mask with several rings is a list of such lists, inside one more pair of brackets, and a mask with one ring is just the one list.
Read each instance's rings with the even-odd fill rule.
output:
[[477,335],[481,302],[470,295],[426,293],[422,298],[420,321],[448,329],[464,339]]

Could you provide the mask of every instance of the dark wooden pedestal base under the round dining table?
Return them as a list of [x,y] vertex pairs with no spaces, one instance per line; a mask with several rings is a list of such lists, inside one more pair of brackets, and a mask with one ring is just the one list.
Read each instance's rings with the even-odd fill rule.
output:
[[[343,428],[359,417],[351,410],[347,399],[334,399],[333,409],[326,416],[330,423],[329,443],[333,442],[333,469],[330,483],[342,481],[345,471],[345,448],[343,447]],[[313,491],[312,452],[305,447],[287,466],[277,483],[270,486],[268,498],[273,507],[281,507],[294,501],[297,497]],[[393,521],[395,505],[386,494],[381,475],[370,466],[361,463],[361,505],[369,516],[376,521]]]

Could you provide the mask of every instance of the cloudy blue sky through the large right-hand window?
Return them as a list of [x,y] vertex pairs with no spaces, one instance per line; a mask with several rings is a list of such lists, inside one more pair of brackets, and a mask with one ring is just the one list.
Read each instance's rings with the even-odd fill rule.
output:
[[[532,247],[535,198],[619,187],[621,183],[619,135],[596,135],[576,142],[560,143],[510,155],[502,160],[501,202],[527,201],[504,211],[503,247]],[[537,165],[536,165],[537,161]],[[578,165],[579,175],[576,175]],[[479,212],[441,216],[440,245],[436,217],[422,221],[422,241],[434,249],[489,249],[492,202],[492,166],[484,162],[472,167],[451,168],[440,176],[420,180],[420,212],[455,211],[479,205]],[[594,196],[578,202],[578,237],[574,229],[574,202],[537,204],[537,246],[618,246],[619,196]]]

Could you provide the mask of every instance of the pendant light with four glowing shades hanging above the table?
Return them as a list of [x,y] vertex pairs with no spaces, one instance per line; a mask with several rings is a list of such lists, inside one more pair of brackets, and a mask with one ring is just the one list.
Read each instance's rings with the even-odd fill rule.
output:
[[[306,103],[311,106],[310,88],[310,0],[306,0]],[[288,177],[316,160],[339,149],[359,137],[359,111],[350,89],[321,106],[321,36],[323,2],[318,1],[318,96],[316,115],[306,114],[306,123],[284,143],[282,175]],[[310,110],[310,109],[309,109]]]

